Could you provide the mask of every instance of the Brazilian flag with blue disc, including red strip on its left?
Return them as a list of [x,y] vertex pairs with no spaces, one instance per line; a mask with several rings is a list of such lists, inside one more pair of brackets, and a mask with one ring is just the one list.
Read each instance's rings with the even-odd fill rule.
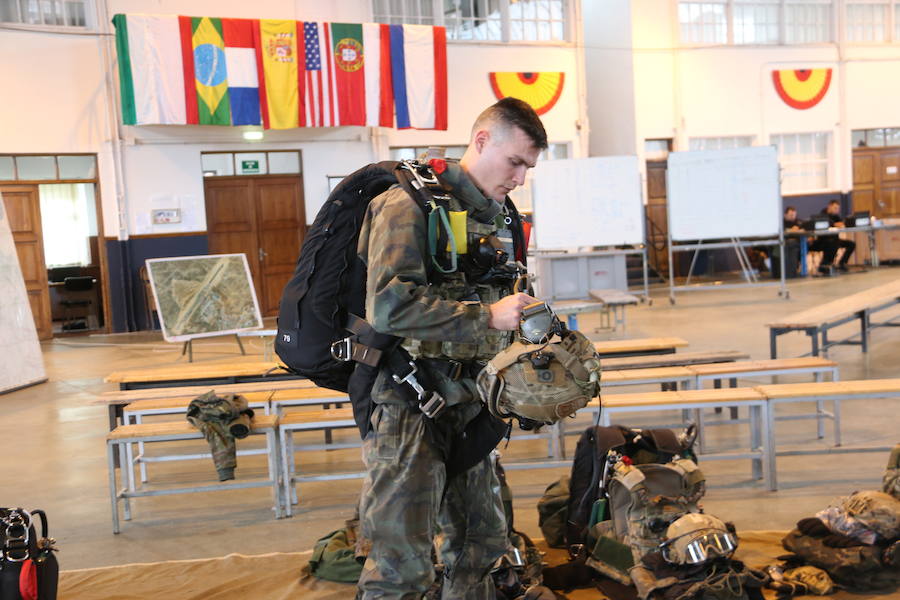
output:
[[188,123],[231,125],[222,20],[178,17]]

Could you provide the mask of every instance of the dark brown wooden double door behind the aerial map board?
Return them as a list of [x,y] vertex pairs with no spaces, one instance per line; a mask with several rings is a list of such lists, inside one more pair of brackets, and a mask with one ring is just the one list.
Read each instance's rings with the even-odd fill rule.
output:
[[306,233],[299,176],[204,180],[210,254],[247,256],[263,316],[278,314]]

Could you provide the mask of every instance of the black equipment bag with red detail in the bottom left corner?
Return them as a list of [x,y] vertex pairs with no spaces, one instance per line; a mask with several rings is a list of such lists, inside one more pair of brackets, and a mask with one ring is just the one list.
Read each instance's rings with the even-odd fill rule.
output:
[[[41,518],[41,537],[33,519]],[[0,508],[0,600],[55,600],[59,563],[42,510]]]

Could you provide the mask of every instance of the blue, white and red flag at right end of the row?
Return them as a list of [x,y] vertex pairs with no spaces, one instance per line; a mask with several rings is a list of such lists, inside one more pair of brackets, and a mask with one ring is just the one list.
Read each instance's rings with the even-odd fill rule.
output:
[[391,25],[391,79],[397,129],[447,129],[447,32]]

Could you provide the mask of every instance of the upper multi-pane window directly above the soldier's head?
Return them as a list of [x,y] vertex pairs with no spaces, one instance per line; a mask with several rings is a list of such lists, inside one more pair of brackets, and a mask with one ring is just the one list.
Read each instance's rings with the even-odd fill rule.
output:
[[568,0],[373,0],[378,23],[443,25],[447,39],[561,42]]

